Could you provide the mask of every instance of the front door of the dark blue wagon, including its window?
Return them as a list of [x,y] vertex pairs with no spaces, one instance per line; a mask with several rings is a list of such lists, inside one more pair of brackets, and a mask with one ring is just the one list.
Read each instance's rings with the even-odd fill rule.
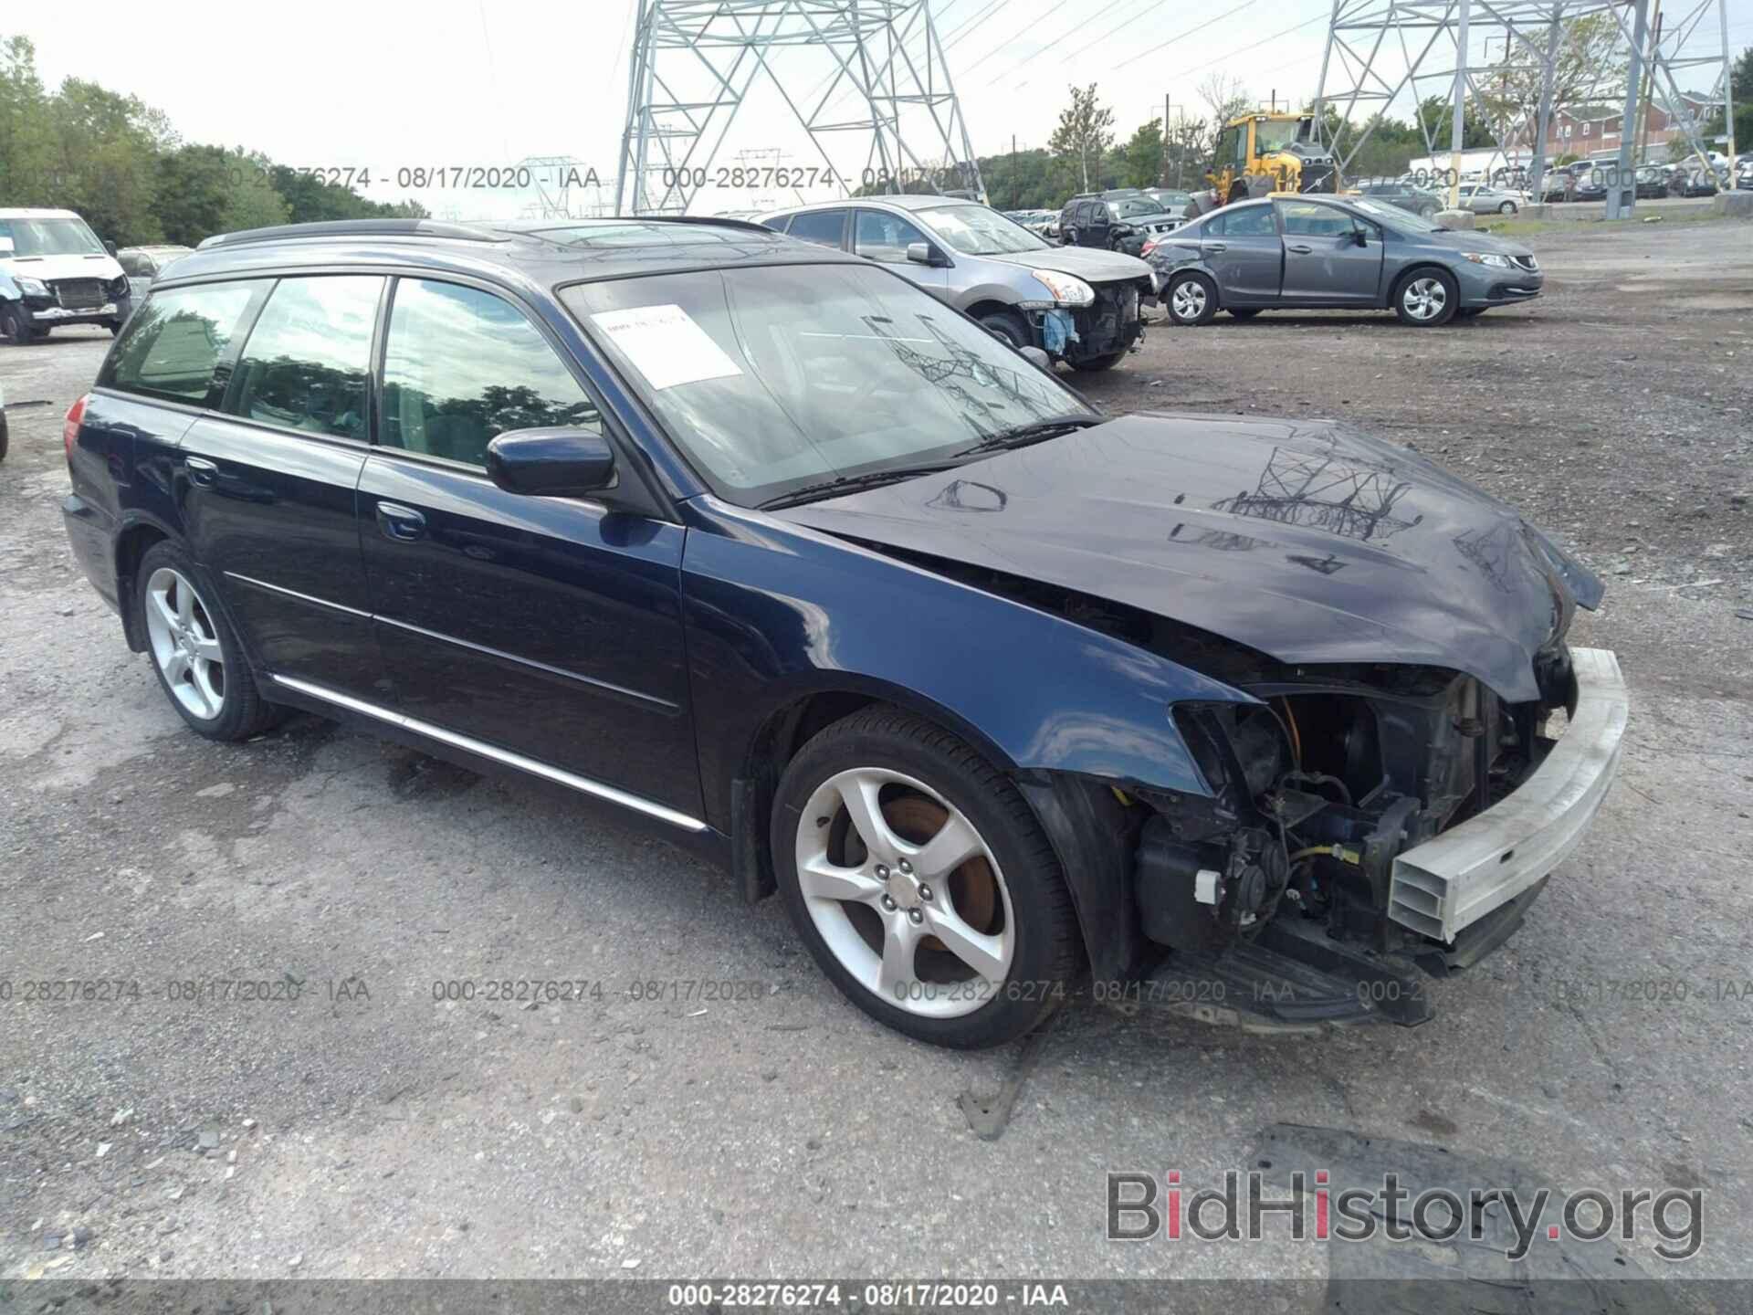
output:
[[486,475],[507,430],[603,430],[559,351],[496,293],[400,279],[382,368],[359,535],[403,715],[698,817],[684,530]]

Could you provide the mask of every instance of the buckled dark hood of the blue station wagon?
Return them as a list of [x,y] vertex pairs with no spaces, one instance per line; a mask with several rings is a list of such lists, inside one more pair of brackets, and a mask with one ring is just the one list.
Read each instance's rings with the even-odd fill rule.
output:
[[1332,421],[1139,414],[775,512],[1125,603],[1283,663],[1408,663],[1537,698],[1600,580],[1511,507]]

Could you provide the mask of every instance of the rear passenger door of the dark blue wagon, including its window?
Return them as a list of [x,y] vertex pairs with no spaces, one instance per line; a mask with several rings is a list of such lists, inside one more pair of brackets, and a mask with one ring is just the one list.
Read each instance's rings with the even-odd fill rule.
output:
[[223,414],[196,419],[177,454],[195,556],[256,659],[363,698],[387,696],[354,514],[382,295],[379,275],[277,281]]

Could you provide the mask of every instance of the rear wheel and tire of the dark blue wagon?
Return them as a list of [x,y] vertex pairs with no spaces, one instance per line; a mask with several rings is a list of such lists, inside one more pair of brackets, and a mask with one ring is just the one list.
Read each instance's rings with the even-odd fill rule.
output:
[[170,707],[196,735],[247,740],[279,719],[261,698],[244,645],[203,594],[195,563],[175,544],[154,544],[135,573],[145,650]]

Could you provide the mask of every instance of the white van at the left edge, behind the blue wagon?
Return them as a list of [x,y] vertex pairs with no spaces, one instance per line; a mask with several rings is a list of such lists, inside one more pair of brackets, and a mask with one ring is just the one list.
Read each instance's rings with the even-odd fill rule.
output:
[[128,275],[72,210],[0,210],[0,338],[26,344],[60,324],[121,333]]

